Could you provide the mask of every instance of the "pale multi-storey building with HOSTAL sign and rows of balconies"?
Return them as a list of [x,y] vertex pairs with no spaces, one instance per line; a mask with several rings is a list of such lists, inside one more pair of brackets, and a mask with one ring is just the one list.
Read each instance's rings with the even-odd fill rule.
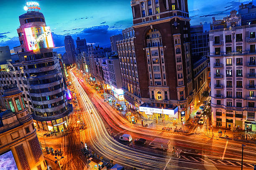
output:
[[210,30],[213,126],[255,127],[256,24],[242,25],[236,10],[223,20],[212,18]]

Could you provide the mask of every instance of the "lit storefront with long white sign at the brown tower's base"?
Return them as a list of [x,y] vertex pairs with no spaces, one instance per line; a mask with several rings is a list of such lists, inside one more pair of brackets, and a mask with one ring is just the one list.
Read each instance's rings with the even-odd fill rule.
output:
[[143,103],[139,106],[139,111],[144,117],[148,118],[158,118],[159,120],[170,120],[176,121],[178,120],[178,107],[173,108],[160,108],[160,107],[152,107]]

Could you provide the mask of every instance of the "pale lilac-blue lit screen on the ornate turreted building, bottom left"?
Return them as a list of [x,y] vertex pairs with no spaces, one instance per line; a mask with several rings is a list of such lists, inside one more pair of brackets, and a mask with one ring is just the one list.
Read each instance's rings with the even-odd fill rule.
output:
[[11,150],[7,153],[0,155],[0,169],[1,170],[18,170]]

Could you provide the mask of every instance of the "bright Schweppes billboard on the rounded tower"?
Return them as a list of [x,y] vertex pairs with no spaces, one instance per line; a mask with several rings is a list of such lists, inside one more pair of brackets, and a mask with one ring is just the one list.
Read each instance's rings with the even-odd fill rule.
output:
[[25,28],[28,50],[54,47],[50,27]]

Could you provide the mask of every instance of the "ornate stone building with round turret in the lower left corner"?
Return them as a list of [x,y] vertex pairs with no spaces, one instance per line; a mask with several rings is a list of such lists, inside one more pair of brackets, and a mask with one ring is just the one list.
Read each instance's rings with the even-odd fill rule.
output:
[[[15,84],[3,86],[8,110],[0,112],[0,160],[8,169],[46,170],[33,118]],[[5,167],[2,167],[5,169]]]

